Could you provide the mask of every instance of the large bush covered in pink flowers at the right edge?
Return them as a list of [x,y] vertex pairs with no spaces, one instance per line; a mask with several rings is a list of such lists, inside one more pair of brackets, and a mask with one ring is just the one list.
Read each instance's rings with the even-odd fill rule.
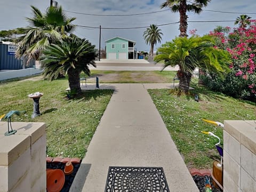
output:
[[256,20],[248,28],[221,28],[211,31],[217,49],[227,50],[232,58],[224,80],[207,74],[203,80],[212,89],[233,97],[256,101]]

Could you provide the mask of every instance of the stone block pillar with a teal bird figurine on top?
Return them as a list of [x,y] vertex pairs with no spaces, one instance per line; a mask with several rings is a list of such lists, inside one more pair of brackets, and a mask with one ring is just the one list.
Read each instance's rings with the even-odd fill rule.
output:
[[5,136],[0,122],[0,192],[46,191],[44,123],[12,122],[17,133]]

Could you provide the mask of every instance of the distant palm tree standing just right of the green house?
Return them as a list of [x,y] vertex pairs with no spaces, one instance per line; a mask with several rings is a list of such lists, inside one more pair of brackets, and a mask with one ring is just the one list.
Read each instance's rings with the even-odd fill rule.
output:
[[149,59],[153,59],[154,45],[156,45],[157,42],[161,42],[161,35],[163,35],[161,29],[158,29],[158,27],[154,24],[151,24],[150,27],[144,31],[143,37],[146,43],[150,44]]

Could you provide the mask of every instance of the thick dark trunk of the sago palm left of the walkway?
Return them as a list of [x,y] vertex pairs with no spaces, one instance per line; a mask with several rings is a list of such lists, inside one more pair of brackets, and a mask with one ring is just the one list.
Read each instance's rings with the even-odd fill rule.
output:
[[68,70],[68,83],[70,91],[74,91],[77,94],[81,94],[80,86],[80,71],[74,68]]

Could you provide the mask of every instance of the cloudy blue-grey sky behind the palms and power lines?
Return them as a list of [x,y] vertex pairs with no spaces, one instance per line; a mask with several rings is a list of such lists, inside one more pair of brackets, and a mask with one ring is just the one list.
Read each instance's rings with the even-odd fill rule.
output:
[[[161,11],[160,6],[164,0],[57,0],[64,10],[72,12],[81,12],[89,14],[138,14]],[[25,18],[30,17],[30,5],[38,7],[44,12],[49,6],[50,0],[12,0],[0,1],[0,30],[13,29],[17,27],[25,27],[28,25]],[[240,13],[256,13],[255,0],[212,0],[207,7],[204,8],[199,15],[188,13],[188,31],[197,29],[197,34],[204,35],[216,26],[234,27],[234,22],[189,22],[189,21],[223,21],[235,20]],[[206,10],[239,12],[239,13],[219,13]],[[93,15],[82,15],[76,13],[67,13],[70,17],[76,17],[73,21],[75,25],[105,27],[105,28],[125,28],[125,27],[146,27],[150,24],[162,25],[165,23],[173,23],[179,21],[179,13],[171,11],[162,11],[154,14],[125,16],[125,17],[102,17]],[[248,14],[256,19],[256,14]],[[171,41],[175,36],[179,35],[179,24],[166,25],[159,27],[164,34],[162,43]],[[136,41],[138,51],[149,51],[149,45],[145,44],[142,37],[142,29],[102,29],[101,30],[101,47],[105,46],[105,41],[115,36],[124,37]],[[77,27],[75,34],[79,37],[89,39],[90,42],[99,47],[99,29]],[[161,46],[157,44],[156,47]]]

